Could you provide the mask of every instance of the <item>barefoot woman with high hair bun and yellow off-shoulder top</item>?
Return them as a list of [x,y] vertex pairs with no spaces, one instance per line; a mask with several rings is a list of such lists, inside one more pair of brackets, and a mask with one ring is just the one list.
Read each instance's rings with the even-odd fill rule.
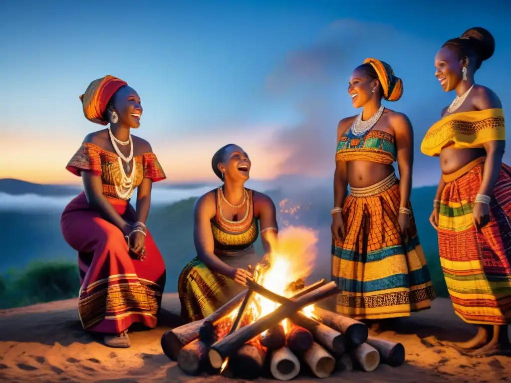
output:
[[458,348],[482,355],[508,348],[511,322],[511,168],[502,163],[504,113],[497,95],[474,82],[495,50],[483,28],[448,40],[435,57],[444,91],[456,91],[421,150],[440,157],[442,177],[430,221],[456,314],[478,325]]

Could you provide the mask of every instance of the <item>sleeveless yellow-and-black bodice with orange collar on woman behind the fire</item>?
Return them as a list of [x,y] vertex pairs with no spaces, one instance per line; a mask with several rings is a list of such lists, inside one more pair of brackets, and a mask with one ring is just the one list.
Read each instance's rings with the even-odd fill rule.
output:
[[240,221],[225,219],[222,210],[222,190],[215,193],[216,214],[211,220],[211,229],[215,241],[215,250],[236,252],[253,245],[259,236],[257,219],[254,216],[253,192],[247,190],[245,216]]

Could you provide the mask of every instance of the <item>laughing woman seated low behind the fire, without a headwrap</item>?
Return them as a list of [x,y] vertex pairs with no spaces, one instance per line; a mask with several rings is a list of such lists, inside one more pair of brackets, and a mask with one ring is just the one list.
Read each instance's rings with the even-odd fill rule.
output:
[[207,317],[246,288],[250,266],[261,261],[253,248],[259,229],[266,253],[278,232],[273,201],[244,186],[251,167],[247,153],[230,143],[215,153],[211,165],[223,185],[195,202],[197,256],[178,282],[181,317],[189,322]]

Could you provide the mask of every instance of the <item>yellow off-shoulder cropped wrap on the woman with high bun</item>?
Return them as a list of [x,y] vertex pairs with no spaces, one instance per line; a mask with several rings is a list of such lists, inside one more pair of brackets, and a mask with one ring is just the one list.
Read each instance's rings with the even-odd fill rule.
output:
[[505,140],[504,112],[485,109],[450,114],[437,121],[427,131],[421,151],[437,156],[450,142],[454,148],[482,148],[483,143]]

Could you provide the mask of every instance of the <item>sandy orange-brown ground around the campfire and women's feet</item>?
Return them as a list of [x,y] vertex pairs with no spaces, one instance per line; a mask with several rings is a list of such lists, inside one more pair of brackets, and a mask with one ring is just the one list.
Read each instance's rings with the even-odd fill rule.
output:
[[[164,296],[158,328],[130,334],[130,349],[105,347],[83,332],[77,300],[0,310],[0,380],[5,382],[225,382],[220,376],[184,375],[160,348],[160,337],[176,326],[177,294]],[[470,358],[438,341],[466,340],[472,326],[458,319],[450,300],[437,298],[423,313],[401,319],[378,337],[401,342],[406,363],[380,365],[371,373],[336,373],[333,382],[504,382],[511,381],[511,358]],[[320,379],[299,377],[311,382]],[[241,381],[241,380],[237,380]],[[269,381],[258,379],[257,381]],[[273,380],[276,381],[276,380]]]

